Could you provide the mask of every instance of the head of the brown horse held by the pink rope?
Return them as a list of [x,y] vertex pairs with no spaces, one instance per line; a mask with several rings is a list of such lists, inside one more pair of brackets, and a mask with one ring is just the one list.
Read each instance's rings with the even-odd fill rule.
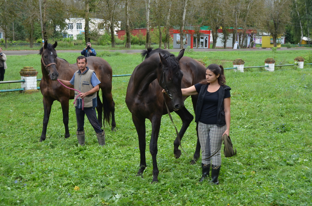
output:
[[45,68],[48,76],[52,80],[57,80],[59,73],[56,69],[56,48],[57,42],[54,44],[48,44],[46,41],[41,47],[39,54],[41,54],[41,66]]

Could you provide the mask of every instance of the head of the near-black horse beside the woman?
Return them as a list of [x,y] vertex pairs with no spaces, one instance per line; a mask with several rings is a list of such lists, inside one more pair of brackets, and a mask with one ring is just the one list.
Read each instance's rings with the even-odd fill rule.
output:
[[172,99],[172,106],[174,110],[179,110],[184,106],[184,101],[182,99],[181,82],[183,77],[183,72],[180,68],[179,61],[183,57],[184,49],[182,49],[178,57],[173,55],[165,54],[162,56],[159,53],[161,68],[161,74],[159,79],[159,85],[165,89],[168,96]]

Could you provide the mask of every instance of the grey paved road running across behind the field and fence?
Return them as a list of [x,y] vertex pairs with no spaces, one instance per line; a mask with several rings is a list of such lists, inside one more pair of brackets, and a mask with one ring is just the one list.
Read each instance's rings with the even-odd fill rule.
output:
[[[312,48],[281,48],[279,50],[312,50]],[[167,49],[169,52],[179,52],[180,49]],[[271,51],[270,48],[267,49],[262,49],[262,48],[256,48],[256,49],[193,49],[195,52],[197,51]],[[57,53],[60,52],[72,52],[72,53],[79,53],[81,52],[81,50],[56,50]],[[104,51],[104,50],[96,50],[97,52],[100,51]],[[133,54],[133,53],[141,53],[142,49],[128,49],[128,50],[109,50],[111,52],[121,52],[121,53],[129,53],[129,54]],[[3,51],[4,54],[8,55],[27,55],[27,54],[38,54],[39,50],[7,50],[7,51]]]

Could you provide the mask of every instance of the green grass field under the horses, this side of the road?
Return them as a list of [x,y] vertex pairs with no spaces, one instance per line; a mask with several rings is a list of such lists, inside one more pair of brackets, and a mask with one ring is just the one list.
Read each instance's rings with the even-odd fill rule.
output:
[[[176,53],[177,54],[177,53]],[[277,63],[293,63],[307,50],[278,51]],[[264,65],[270,51],[194,52],[185,54],[206,63],[232,67],[236,58],[246,66]],[[77,54],[59,57],[75,63]],[[132,73],[139,54],[106,53],[113,74]],[[33,66],[41,78],[40,56],[8,56],[5,80],[20,79],[24,66]],[[312,68],[263,68],[244,73],[225,71],[231,90],[230,135],[237,155],[224,158],[220,185],[199,183],[200,162],[190,165],[182,153],[173,156],[175,130],[168,115],[162,118],[158,138],[158,183],[152,181],[152,159],[139,169],[139,144],[131,114],[125,105],[129,77],[113,77],[117,131],[106,125],[106,147],[98,146],[85,121],[86,146],[77,147],[76,116],[70,106],[71,137],[64,138],[61,105],[52,105],[47,138],[40,143],[43,104],[40,92],[0,93],[0,205],[217,205],[288,206],[312,202]],[[20,83],[0,84],[0,89],[20,88]],[[72,100],[70,101],[72,105]],[[186,107],[194,114],[190,98]],[[177,127],[182,125],[175,113]],[[146,121],[149,143],[151,124]],[[182,145],[189,155],[196,146],[196,124],[191,123]],[[75,190],[78,186],[80,190]]]

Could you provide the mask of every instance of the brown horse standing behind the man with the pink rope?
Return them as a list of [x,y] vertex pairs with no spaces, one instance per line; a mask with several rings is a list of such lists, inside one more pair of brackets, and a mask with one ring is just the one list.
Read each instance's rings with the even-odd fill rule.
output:
[[[51,113],[51,106],[53,101],[61,102],[63,112],[63,123],[65,125],[65,138],[70,136],[68,129],[68,109],[69,100],[74,99],[74,91],[62,86],[59,82],[55,81],[58,78],[70,81],[74,73],[78,70],[77,64],[70,64],[65,59],[57,57],[56,48],[57,42],[54,44],[44,43],[40,49],[41,54],[41,71],[42,78],[40,82],[40,90],[43,95],[43,128],[40,137],[40,142],[46,139],[46,128],[49,122]],[[97,93],[97,107],[98,121],[102,126],[102,112],[104,109],[104,119],[110,124],[111,129],[114,130],[115,122],[115,102],[112,96],[112,68],[110,64],[100,57],[88,57],[88,67],[95,71],[96,76],[100,80],[99,87],[102,91],[102,101]],[[73,86],[72,86],[73,88]],[[103,125],[104,125],[103,119]]]

